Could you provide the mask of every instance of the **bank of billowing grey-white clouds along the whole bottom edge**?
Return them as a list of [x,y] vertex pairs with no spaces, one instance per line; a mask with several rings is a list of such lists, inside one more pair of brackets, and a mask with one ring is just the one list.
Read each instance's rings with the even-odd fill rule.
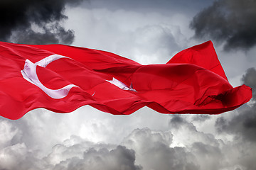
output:
[[[254,143],[225,142],[200,132],[184,115],[171,116],[170,130],[136,129],[119,145],[90,142],[73,135],[56,143],[46,154],[31,147],[23,137],[16,137],[33,128],[26,126],[15,127],[11,121],[1,119],[4,138],[0,138],[0,169],[233,170],[256,166]],[[29,135],[26,137],[38,142]],[[183,146],[176,146],[177,142]]]

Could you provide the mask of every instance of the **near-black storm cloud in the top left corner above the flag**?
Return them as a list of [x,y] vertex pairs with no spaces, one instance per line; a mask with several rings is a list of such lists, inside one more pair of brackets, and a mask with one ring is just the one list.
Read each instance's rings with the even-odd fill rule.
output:
[[70,44],[73,30],[61,26],[68,16],[65,5],[77,5],[82,0],[1,0],[0,40],[18,43]]

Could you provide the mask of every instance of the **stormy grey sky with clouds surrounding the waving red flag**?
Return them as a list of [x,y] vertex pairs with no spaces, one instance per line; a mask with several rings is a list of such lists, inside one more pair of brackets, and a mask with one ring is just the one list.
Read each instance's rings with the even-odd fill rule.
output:
[[[255,0],[0,1],[1,41],[90,47],[156,64],[212,40],[230,83],[252,89],[255,21]],[[0,169],[256,169],[255,101],[220,115],[111,115],[83,106],[0,118]]]

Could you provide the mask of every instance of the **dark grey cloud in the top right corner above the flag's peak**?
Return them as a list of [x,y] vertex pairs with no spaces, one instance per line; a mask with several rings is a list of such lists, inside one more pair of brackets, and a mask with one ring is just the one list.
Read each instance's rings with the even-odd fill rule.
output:
[[191,21],[196,38],[225,42],[225,50],[256,44],[256,1],[218,0]]

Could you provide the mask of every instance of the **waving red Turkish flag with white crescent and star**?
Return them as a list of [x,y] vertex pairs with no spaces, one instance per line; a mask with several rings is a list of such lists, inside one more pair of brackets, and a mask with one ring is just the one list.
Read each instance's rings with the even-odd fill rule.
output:
[[229,84],[210,41],[150,65],[82,47],[0,42],[0,72],[0,115],[9,119],[35,108],[68,113],[84,105],[124,115],[144,106],[218,114],[252,98],[250,87]]

